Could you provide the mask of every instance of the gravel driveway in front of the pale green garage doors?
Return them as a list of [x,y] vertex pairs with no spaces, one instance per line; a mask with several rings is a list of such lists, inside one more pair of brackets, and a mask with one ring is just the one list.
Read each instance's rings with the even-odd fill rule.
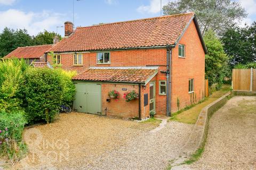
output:
[[12,169],[165,169],[179,157],[193,125],[148,123],[97,115],[62,114],[25,131],[29,154]]

